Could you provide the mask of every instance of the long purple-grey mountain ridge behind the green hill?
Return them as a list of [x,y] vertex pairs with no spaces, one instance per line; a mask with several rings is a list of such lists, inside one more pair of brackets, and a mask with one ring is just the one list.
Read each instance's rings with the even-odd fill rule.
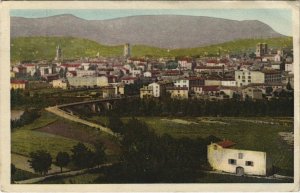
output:
[[72,36],[104,45],[148,45],[192,48],[237,39],[284,37],[257,20],[204,16],[145,15],[108,20],[84,20],[70,14],[45,18],[11,18],[11,37]]

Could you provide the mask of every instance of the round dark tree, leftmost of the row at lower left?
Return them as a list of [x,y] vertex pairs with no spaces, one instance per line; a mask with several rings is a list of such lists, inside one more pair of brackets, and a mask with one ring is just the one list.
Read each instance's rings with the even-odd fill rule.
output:
[[51,169],[52,158],[50,153],[45,150],[37,150],[36,152],[31,152],[31,160],[28,160],[30,167],[36,172],[42,175],[46,175],[48,170]]

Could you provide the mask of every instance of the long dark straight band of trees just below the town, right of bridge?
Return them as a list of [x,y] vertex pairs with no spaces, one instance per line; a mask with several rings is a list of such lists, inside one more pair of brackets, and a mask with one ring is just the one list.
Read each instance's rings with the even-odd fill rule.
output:
[[293,116],[294,100],[281,98],[209,101],[126,98],[116,101],[112,111],[121,116]]

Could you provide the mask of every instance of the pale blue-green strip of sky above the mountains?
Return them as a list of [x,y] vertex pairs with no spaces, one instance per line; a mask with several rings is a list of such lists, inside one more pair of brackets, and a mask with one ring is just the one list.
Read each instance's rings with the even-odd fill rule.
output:
[[100,9],[100,10],[11,10],[11,16],[41,18],[60,14],[72,14],[86,20],[105,20],[134,15],[190,15],[208,16],[231,20],[259,20],[275,31],[292,36],[292,11],[288,9]]

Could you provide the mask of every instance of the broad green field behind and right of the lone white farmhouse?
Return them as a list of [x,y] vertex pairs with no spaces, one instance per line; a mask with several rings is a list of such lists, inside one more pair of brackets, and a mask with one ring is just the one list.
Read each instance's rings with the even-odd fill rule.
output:
[[[122,118],[126,122],[129,118]],[[271,156],[276,172],[293,175],[293,146],[279,132],[293,132],[293,118],[232,118],[232,117],[138,117],[157,134],[170,134],[175,138],[205,138],[214,135],[231,140],[236,148],[265,151]],[[107,118],[92,117],[91,121],[107,125]]]

